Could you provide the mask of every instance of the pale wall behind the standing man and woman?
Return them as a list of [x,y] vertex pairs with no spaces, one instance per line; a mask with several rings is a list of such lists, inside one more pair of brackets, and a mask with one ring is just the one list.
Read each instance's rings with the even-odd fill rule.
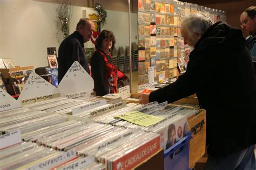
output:
[[[48,66],[47,47],[59,47],[62,34],[56,24],[57,4],[32,0],[0,0],[0,57],[11,58],[19,66]],[[70,33],[88,8],[73,6]],[[102,28],[113,31],[116,46],[129,45],[128,13],[107,10],[107,24]],[[132,41],[136,41],[137,14],[131,14]],[[91,46],[91,45],[86,45]]]

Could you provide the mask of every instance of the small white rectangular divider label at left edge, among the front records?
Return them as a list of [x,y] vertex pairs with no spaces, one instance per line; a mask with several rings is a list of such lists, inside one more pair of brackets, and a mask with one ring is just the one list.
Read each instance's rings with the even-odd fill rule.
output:
[[0,136],[0,150],[18,143],[21,143],[21,131],[7,132]]

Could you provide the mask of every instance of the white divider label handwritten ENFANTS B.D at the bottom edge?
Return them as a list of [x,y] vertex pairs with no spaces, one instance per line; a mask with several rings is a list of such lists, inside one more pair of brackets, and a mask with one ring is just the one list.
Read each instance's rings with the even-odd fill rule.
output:
[[71,150],[68,152],[63,152],[62,154],[57,155],[56,157],[53,157],[48,160],[43,160],[39,164],[33,165],[30,168],[27,168],[27,170],[35,170],[35,169],[51,169],[53,167],[56,167],[60,164],[63,164],[64,162],[67,162],[71,159],[76,158],[76,151]]

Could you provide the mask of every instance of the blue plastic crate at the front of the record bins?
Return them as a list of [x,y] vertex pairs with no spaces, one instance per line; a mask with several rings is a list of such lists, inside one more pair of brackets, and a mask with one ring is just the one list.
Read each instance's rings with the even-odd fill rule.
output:
[[164,151],[164,169],[188,169],[191,132]]

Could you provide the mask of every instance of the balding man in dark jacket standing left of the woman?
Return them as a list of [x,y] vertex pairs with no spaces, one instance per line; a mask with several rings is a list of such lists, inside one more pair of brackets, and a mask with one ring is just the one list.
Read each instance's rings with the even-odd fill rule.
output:
[[90,73],[84,43],[90,40],[94,29],[95,25],[90,19],[81,18],[77,23],[76,31],[62,41],[58,51],[58,83],[74,61],[78,61],[86,72]]

